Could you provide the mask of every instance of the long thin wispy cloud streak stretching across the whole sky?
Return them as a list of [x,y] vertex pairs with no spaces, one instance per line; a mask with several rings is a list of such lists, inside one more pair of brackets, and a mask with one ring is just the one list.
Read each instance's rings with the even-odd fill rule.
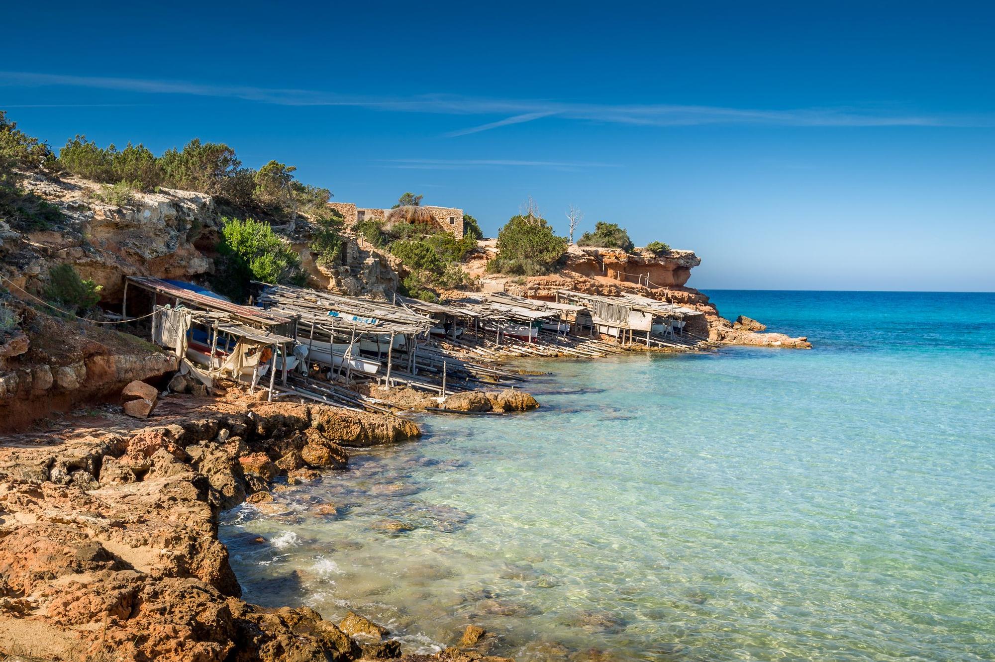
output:
[[861,126],[995,126],[995,116],[924,115],[850,106],[769,110],[678,104],[601,104],[552,99],[471,97],[422,94],[411,97],[370,97],[297,88],[213,85],[184,81],[153,81],[109,77],[0,72],[0,85],[75,86],[150,94],[181,94],[235,98],[259,103],[299,106],[353,106],[392,112],[446,115],[506,115],[502,119],[448,133],[461,136],[552,115],[563,119],[637,126],[696,126],[756,124],[799,127]]

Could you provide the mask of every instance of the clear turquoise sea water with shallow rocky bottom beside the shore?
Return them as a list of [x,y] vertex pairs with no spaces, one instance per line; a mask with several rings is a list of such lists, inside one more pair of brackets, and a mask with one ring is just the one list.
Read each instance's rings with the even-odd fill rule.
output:
[[227,513],[246,598],[519,660],[995,659],[995,295],[709,294],[816,349],[538,364],[536,413]]

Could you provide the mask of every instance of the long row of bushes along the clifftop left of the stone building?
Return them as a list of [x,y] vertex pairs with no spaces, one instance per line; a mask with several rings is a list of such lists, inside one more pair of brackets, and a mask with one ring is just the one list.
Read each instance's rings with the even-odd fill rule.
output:
[[129,142],[123,149],[112,144],[100,147],[87,136],[77,135],[60,150],[57,163],[63,170],[101,184],[137,191],[156,187],[196,191],[281,220],[293,221],[298,212],[318,210],[331,197],[327,189],[298,182],[294,166],[270,161],[259,170],[245,168],[228,145],[202,143],[197,138],[183,149],[155,156],[140,143]]

